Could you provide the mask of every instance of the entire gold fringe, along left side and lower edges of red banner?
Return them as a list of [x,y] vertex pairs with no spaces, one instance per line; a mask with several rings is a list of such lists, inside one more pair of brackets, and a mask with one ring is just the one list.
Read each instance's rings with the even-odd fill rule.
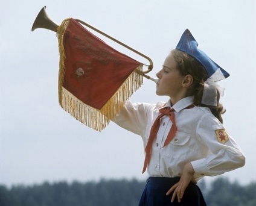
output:
[[63,110],[67,111],[75,119],[79,120],[90,128],[102,131],[110,122],[110,119],[115,117],[124,106],[125,102],[132,96],[132,94],[143,84],[142,66],[139,65],[130,76],[124,81],[120,88],[115,92],[112,98],[106,104],[97,110],[96,108],[86,105],[77,99],[72,93],[68,92],[63,85],[65,73],[65,49],[63,45],[63,35],[68,26],[69,19],[63,20],[60,27],[57,28],[57,37],[59,40],[59,104]]

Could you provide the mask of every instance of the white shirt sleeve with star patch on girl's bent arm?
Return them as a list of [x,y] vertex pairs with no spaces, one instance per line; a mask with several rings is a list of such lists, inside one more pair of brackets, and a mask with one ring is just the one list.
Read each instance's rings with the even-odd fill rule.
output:
[[191,161],[196,176],[216,176],[245,165],[245,155],[222,123],[210,115],[202,117],[197,138],[211,151],[207,157]]

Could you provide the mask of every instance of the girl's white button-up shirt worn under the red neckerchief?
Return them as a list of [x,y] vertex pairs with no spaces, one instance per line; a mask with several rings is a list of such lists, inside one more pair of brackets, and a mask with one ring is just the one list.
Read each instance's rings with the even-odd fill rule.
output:
[[[150,162],[147,166],[149,176],[181,176],[188,162],[191,162],[194,168],[196,179],[204,175],[220,175],[244,166],[243,152],[225,131],[222,123],[214,117],[209,108],[184,109],[191,104],[193,104],[193,96],[181,99],[173,105],[178,131],[164,148],[162,146],[172,123],[168,116],[161,118],[161,126],[153,142]],[[127,101],[124,108],[112,120],[126,130],[141,136],[145,151],[150,129],[159,115],[159,108],[163,105],[164,102],[132,104]],[[165,107],[170,107],[170,100]],[[221,137],[219,141],[218,136]]]

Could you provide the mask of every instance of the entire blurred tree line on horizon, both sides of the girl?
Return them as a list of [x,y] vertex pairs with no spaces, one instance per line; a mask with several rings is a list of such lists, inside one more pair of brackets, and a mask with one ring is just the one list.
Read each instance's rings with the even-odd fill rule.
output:
[[[146,181],[101,179],[98,182],[66,181],[33,186],[0,185],[0,206],[136,206]],[[208,206],[255,206],[256,183],[241,186],[217,178],[209,186],[199,182]]]

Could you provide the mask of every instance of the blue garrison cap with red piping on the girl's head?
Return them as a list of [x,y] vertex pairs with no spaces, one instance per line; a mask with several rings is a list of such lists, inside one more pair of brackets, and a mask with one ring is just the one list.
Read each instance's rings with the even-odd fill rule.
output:
[[200,49],[197,49],[197,46],[198,43],[190,33],[190,30],[187,29],[182,34],[181,40],[179,40],[176,49],[186,52],[187,54],[196,58],[196,60],[198,60],[205,68],[206,72],[208,73],[208,77],[213,75],[213,73],[215,73],[216,70],[220,68],[221,72],[223,73],[223,76],[227,78],[229,76],[229,73],[222,69],[222,67],[216,64],[213,60],[211,60],[211,58],[208,57],[208,55],[206,55],[205,52],[201,51]]

